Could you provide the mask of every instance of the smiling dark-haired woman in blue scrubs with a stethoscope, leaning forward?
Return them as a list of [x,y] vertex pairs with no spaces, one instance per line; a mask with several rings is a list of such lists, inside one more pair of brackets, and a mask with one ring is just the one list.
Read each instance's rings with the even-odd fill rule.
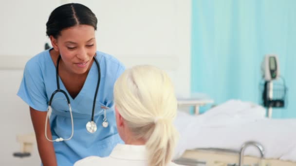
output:
[[87,156],[108,156],[122,142],[112,92],[125,68],[96,51],[97,18],[88,7],[59,6],[46,28],[53,49],[27,62],[18,92],[30,106],[41,162],[73,166]]

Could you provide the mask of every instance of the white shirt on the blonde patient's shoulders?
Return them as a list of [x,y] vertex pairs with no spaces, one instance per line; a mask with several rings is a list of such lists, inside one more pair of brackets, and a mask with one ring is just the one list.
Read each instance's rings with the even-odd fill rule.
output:
[[[90,156],[74,166],[148,166],[145,146],[117,144],[109,157]],[[169,163],[167,166],[180,166]]]

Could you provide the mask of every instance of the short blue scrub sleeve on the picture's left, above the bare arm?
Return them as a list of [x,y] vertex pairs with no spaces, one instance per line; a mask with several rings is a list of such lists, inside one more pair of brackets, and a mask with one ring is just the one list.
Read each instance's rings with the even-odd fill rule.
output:
[[17,94],[30,107],[38,111],[46,111],[48,99],[42,71],[34,58],[29,60],[24,68],[23,78]]

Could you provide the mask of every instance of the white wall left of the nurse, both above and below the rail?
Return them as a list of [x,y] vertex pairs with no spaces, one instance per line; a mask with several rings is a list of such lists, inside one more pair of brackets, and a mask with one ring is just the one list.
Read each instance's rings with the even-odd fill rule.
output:
[[[32,133],[28,106],[17,96],[22,77],[21,68],[28,55],[43,50],[47,41],[45,23],[58,0],[0,0],[0,165],[39,166],[36,146],[29,158],[14,158],[20,150],[17,134]],[[37,7],[33,7],[37,6]],[[19,70],[8,70],[17,66]]]

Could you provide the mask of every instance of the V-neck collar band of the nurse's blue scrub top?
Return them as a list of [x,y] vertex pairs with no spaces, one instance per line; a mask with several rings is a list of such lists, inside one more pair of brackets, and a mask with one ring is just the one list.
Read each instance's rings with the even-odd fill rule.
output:
[[[51,63],[51,66],[54,67],[55,76],[56,76],[56,66],[55,66],[55,63],[54,63],[54,61],[53,61],[51,55],[50,55],[50,50],[52,50],[52,49],[49,49],[49,50],[48,50],[48,58],[49,58],[49,59],[51,60],[51,62],[52,62],[52,63]],[[98,60],[98,61],[99,61],[99,60]],[[92,76],[93,76],[93,73],[94,73],[94,68],[95,68],[94,66],[97,66],[95,62],[92,63],[92,66],[91,66],[91,68],[90,68],[90,71],[89,71],[89,73],[88,73],[86,79],[85,79],[85,82],[83,83],[82,88],[80,89],[79,93],[76,95],[76,97],[75,97],[74,99],[72,98],[72,96],[71,96],[70,93],[68,92],[67,88],[65,87],[65,85],[64,85],[64,83],[63,83],[61,77],[58,76],[58,77],[59,77],[59,85],[60,85],[60,89],[63,89],[63,90],[67,93],[67,95],[69,96],[70,102],[71,102],[71,101],[75,101],[75,103],[77,103],[77,104],[79,105],[79,103],[80,103],[81,100],[83,99],[83,96],[85,95],[86,88],[89,87],[89,82],[90,82],[90,80],[91,80],[90,77],[92,77]],[[97,67],[98,67],[98,66],[97,66]],[[55,77],[55,78],[56,78],[56,77]],[[56,81],[55,81],[55,82],[56,82]],[[57,88],[57,87],[56,87],[56,88]],[[93,89],[93,90],[95,90],[95,89]]]

